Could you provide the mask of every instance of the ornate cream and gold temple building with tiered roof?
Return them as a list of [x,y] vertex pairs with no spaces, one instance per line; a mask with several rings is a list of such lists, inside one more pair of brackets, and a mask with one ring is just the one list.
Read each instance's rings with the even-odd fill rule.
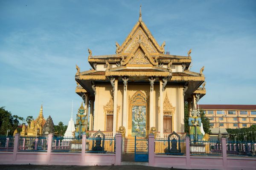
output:
[[157,43],[140,11],[125,41],[116,42],[116,54],[95,56],[88,49],[92,68],[80,71],[76,65],[75,79],[76,93],[90,110],[89,130],[114,135],[124,126],[125,136],[147,136],[156,127],[159,137],[184,133],[184,102],[192,111],[206,94],[204,67],[190,71],[191,50],[171,55],[165,45]]

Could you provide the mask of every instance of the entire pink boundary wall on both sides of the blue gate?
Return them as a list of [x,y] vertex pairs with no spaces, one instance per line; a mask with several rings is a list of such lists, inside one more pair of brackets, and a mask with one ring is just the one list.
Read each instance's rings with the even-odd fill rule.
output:
[[[81,153],[53,153],[52,135],[48,136],[47,152],[17,152],[20,134],[15,135],[13,152],[0,152],[0,164],[52,164],[52,165],[121,165],[122,136],[116,134],[116,153],[85,153],[86,136],[82,138]],[[222,139],[226,146],[226,139]],[[186,138],[189,146],[189,138]],[[83,154],[82,154],[83,153]],[[154,135],[148,136],[148,165],[152,167],[174,167],[184,169],[217,169],[217,170],[256,170],[255,158],[227,157],[223,147],[220,157],[190,156],[186,147],[186,156],[166,156],[154,153]]]

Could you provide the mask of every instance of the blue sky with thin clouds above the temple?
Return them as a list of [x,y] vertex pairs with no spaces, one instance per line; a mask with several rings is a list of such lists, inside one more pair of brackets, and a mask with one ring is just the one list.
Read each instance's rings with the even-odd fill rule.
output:
[[115,54],[139,17],[166,51],[204,65],[207,95],[200,104],[251,104],[256,96],[255,0],[0,0],[0,107],[44,116],[55,124],[81,105],[76,64]]

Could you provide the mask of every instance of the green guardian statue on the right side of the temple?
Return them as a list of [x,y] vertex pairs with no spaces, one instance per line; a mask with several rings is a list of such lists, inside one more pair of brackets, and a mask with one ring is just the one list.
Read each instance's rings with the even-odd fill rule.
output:
[[192,116],[189,117],[189,126],[191,126],[189,131],[190,140],[200,141],[203,138],[203,135],[200,130],[201,117],[198,116],[198,111],[195,108],[193,108],[191,115]]

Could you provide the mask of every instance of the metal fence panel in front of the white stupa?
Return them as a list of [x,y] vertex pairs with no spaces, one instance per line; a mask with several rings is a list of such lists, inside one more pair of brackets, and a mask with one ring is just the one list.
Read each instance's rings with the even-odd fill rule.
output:
[[62,137],[54,136],[52,138],[52,152],[76,152],[82,151],[82,139],[73,136]]

